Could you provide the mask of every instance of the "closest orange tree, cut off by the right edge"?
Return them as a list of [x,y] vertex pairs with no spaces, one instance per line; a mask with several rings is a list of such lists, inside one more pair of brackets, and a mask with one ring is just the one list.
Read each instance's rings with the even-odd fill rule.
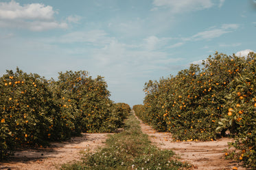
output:
[[229,128],[235,132],[235,142],[230,143],[239,152],[230,157],[244,161],[256,168],[256,54],[240,58],[237,69],[242,70],[231,82],[230,93],[225,96],[223,118],[218,130]]

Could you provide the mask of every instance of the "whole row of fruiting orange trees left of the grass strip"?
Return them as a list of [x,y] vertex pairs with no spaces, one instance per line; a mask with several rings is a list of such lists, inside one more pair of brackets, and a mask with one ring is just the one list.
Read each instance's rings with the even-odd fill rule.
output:
[[23,146],[45,146],[81,132],[112,132],[130,112],[115,104],[102,76],[60,72],[58,81],[19,68],[0,78],[0,159]]

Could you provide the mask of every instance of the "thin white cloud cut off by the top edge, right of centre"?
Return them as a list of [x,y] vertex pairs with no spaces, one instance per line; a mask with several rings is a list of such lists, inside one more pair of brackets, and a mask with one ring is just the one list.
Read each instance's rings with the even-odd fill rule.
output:
[[153,5],[156,7],[152,10],[170,8],[173,13],[183,13],[211,8],[214,4],[211,0],[154,0]]

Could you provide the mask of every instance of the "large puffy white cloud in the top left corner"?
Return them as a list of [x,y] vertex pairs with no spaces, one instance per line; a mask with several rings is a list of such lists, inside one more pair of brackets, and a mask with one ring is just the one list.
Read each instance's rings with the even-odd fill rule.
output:
[[9,3],[2,2],[0,3],[0,27],[31,31],[67,29],[67,23],[54,20],[54,14],[57,13],[51,6],[45,6],[43,3],[20,5],[14,0]]

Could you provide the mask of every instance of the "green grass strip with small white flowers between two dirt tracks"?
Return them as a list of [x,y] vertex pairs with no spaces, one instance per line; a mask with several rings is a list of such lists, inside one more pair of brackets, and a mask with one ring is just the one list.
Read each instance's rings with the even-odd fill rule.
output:
[[62,165],[61,169],[189,169],[189,165],[176,160],[172,150],[151,145],[134,115],[125,124],[123,132],[108,136],[105,147],[84,153],[83,161]]

